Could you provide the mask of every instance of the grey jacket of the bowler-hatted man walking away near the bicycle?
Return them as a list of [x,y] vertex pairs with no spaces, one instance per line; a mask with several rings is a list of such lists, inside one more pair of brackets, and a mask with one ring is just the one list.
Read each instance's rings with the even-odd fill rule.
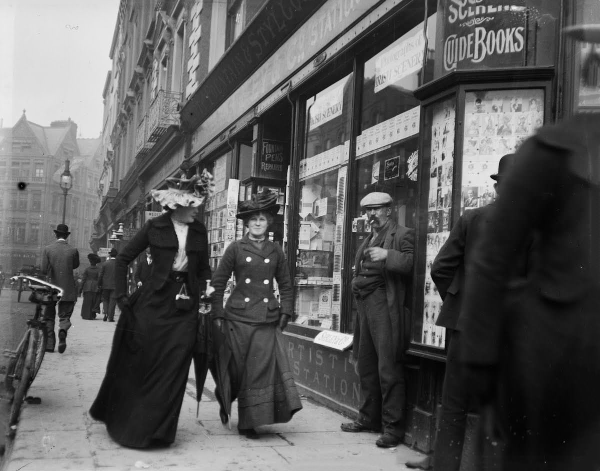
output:
[[44,247],[41,273],[48,273],[50,282],[63,289],[61,301],[77,301],[77,285],[73,270],[79,267],[79,251],[65,240]]

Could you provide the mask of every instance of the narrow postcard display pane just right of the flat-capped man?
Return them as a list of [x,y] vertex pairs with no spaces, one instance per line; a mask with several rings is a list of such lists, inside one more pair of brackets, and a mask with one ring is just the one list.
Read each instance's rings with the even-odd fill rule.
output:
[[446,329],[436,324],[442,307],[437,288],[431,280],[431,263],[450,232],[452,209],[452,171],[454,168],[455,104],[449,99],[434,105],[431,122],[431,160],[427,244],[425,247],[425,286],[421,338],[425,345],[445,348]]

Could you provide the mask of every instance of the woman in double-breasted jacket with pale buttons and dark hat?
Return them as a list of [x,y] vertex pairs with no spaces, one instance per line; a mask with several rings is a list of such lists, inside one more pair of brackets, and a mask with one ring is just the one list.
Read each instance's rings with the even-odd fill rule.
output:
[[[302,409],[281,334],[292,314],[292,283],[283,250],[266,238],[275,201],[277,195],[259,194],[239,205],[249,233],[227,247],[212,277],[211,315],[232,352],[230,400],[238,398],[238,431],[249,438],[258,437],[254,427],[287,422]],[[236,285],[223,307],[232,273]]]

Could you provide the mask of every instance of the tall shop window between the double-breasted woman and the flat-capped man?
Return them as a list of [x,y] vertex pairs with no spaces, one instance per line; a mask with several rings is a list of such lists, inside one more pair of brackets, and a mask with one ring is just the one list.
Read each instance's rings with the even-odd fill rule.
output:
[[350,150],[350,142],[340,137],[350,133],[352,83],[350,74],[307,101],[305,154],[299,170],[293,321],[338,331]]

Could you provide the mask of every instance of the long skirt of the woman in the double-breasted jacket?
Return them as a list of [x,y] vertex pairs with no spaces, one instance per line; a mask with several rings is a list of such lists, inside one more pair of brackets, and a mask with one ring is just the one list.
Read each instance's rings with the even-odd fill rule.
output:
[[238,428],[289,422],[302,403],[277,324],[225,321],[232,351],[231,400],[238,398]]

